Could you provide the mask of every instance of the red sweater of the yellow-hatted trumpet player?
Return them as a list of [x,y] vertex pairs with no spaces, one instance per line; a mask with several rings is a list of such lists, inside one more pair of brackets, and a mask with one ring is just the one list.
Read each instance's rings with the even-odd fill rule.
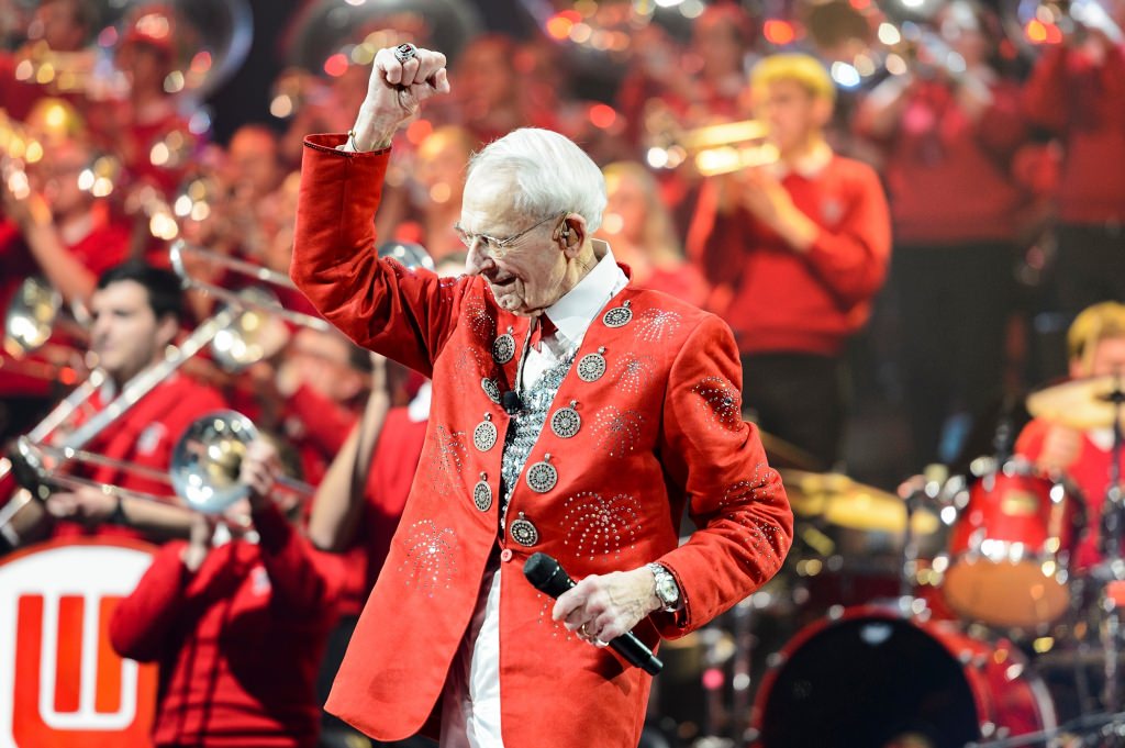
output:
[[820,232],[807,253],[789,247],[742,208],[714,209],[704,187],[688,249],[708,280],[732,298],[720,314],[746,353],[839,353],[867,321],[891,254],[886,199],[875,172],[832,156],[813,177],[782,180]]

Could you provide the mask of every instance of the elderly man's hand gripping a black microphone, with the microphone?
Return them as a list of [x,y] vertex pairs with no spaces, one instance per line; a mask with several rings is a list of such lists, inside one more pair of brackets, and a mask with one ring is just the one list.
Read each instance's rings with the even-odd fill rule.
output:
[[570,631],[584,633],[583,638],[592,643],[611,647],[650,675],[664,667],[630,631],[657,610],[648,605],[651,575],[646,569],[587,577],[576,585],[557,560],[547,553],[533,553],[523,565],[523,574],[536,589],[558,600],[552,618],[565,619]]

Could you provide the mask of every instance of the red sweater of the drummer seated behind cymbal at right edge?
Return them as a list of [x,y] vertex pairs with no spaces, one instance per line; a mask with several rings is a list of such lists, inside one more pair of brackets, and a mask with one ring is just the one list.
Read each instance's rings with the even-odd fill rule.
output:
[[[1016,453],[1032,462],[1037,460],[1043,453],[1043,442],[1050,429],[1048,422],[1033,418],[1016,440]],[[1113,450],[1104,450],[1095,444],[1089,435],[1083,435],[1082,451],[1078,461],[1066,471],[1066,477],[1082,493],[1081,496],[1072,498],[1083,502],[1086,510],[1086,531],[1081,534],[1078,551],[1072,557],[1079,569],[1089,568],[1101,559],[1101,505],[1106,499],[1106,486],[1109,485],[1112,452]]]

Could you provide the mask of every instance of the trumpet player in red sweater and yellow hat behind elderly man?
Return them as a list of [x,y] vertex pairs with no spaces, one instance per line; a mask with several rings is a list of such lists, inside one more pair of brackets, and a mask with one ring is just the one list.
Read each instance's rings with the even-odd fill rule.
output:
[[764,58],[750,76],[776,163],[704,183],[688,252],[734,328],[745,406],[809,452],[840,454],[843,351],[886,273],[890,220],[879,177],[832,153],[835,87],[813,57]]

